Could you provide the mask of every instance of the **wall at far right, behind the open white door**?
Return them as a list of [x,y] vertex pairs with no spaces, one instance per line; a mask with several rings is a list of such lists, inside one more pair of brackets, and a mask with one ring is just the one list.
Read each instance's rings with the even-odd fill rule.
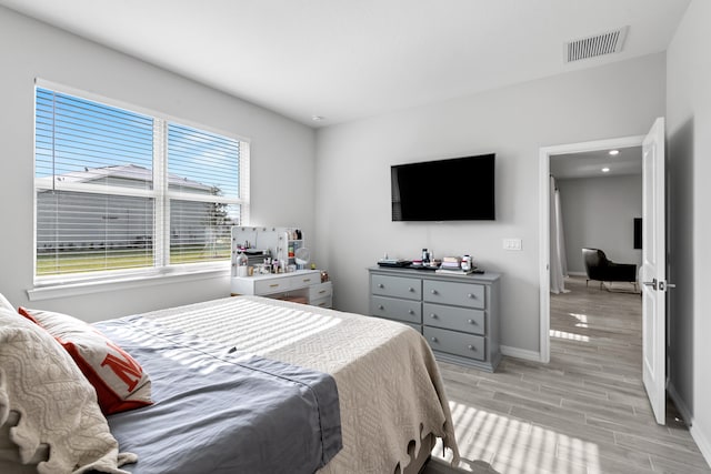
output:
[[711,464],[711,2],[693,0],[668,50],[670,392]]

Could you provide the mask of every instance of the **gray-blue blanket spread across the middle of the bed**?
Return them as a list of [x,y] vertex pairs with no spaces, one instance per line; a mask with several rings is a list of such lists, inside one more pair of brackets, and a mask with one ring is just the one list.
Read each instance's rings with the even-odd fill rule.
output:
[[339,400],[324,373],[131,316],[94,324],[150,374],[154,404],[108,417],[124,468],[153,473],[313,473],[341,448]]

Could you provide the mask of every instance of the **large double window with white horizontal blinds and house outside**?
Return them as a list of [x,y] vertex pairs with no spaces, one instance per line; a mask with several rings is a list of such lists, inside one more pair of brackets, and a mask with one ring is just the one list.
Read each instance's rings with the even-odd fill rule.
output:
[[36,279],[228,261],[249,143],[37,88]]

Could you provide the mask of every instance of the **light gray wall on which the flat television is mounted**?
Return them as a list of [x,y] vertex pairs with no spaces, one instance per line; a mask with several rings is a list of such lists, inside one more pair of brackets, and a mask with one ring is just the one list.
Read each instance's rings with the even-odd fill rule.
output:
[[[319,130],[317,236],[336,306],[368,312],[365,269],[383,252],[470,253],[504,274],[502,344],[538,353],[539,149],[647,133],[664,114],[664,67],[653,54]],[[495,222],[391,222],[391,164],[488,152],[497,153]],[[504,251],[504,238],[522,239],[523,250]]]

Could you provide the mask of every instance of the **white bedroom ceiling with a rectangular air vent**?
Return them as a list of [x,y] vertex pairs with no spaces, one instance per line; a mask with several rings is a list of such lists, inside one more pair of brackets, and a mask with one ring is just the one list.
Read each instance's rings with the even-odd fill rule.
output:
[[[664,51],[689,2],[0,0],[313,127]],[[563,62],[624,26],[621,52]]]

